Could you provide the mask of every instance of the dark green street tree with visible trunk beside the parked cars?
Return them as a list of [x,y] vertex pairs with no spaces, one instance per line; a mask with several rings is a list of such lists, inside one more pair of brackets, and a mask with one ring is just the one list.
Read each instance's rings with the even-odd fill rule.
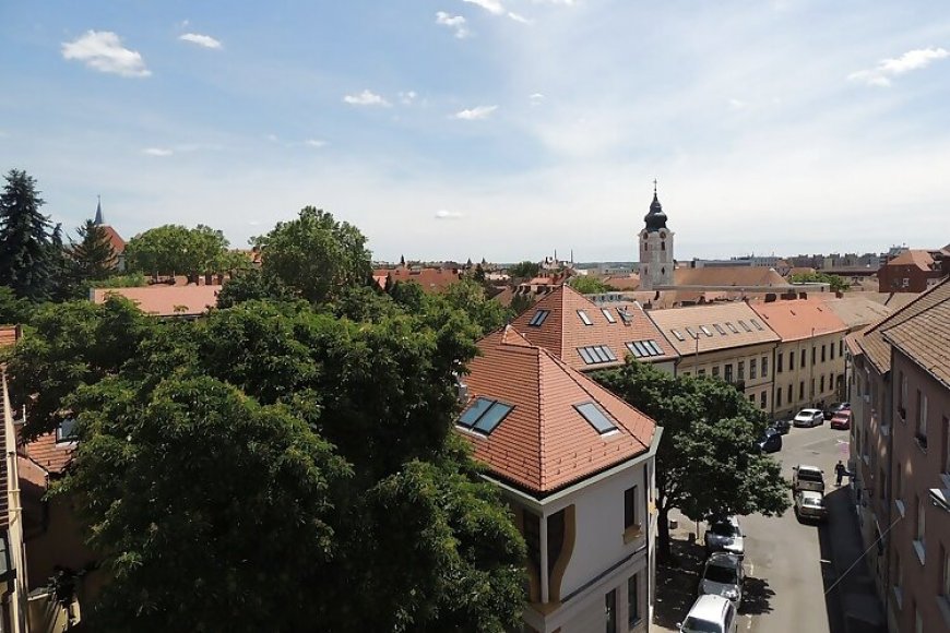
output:
[[669,511],[693,519],[723,514],[781,515],[788,482],[775,459],[756,450],[764,414],[732,385],[673,377],[646,363],[596,372],[594,379],[663,427],[656,452],[660,556],[668,560]]

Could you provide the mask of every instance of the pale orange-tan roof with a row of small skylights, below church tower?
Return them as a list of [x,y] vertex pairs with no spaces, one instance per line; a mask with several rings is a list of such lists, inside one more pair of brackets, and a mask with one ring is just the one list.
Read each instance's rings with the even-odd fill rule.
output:
[[[690,330],[699,335],[700,353],[780,341],[779,335],[745,301],[651,310],[649,314],[682,356],[697,353],[697,338]],[[756,327],[756,323],[762,329]]]

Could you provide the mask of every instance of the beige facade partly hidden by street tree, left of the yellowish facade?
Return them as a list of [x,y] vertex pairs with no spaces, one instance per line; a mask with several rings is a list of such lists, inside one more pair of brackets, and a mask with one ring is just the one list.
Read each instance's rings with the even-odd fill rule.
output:
[[773,413],[774,343],[729,347],[699,355],[684,355],[679,360],[681,375],[711,375],[731,383],[743,383],[749,402],[770,416]]

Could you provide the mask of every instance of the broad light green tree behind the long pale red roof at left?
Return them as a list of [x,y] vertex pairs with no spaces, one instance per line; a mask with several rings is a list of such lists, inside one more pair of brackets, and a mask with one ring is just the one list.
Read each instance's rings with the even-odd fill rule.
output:
[[136,235],[126,244],[126,264],[130,271],[151,275],[187,275],[197,282],[200,275],[224,272],[233,265],[224,234],[209,226],[187,228],[166,224]]

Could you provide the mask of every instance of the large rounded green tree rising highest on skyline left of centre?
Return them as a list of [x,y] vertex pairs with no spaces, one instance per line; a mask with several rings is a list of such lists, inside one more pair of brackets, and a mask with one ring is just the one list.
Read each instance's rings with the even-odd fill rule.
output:
[[361,286],[371,275],[369,250],[359,229],[312,206],[296,219],[280,222],[254,238],[262,267],[314,303],[330,301],[347,286]]

